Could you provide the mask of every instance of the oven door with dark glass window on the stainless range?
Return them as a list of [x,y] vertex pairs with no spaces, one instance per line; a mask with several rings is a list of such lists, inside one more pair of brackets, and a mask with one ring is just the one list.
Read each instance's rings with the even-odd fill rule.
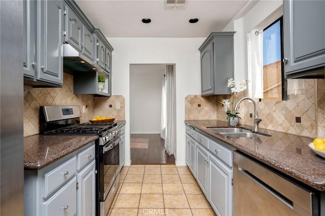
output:
[[115,181],[119,172],[119,143],[120,138],[117,137],[103,146],[102,158],[100,158],[100,200],[105,201],[106,197]]

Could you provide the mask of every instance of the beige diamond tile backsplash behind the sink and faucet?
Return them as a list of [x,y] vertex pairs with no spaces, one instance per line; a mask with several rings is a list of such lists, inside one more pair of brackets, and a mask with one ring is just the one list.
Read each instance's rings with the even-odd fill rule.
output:
[[[246,96],[247,92],[238,97]],[[216,119],[226,121],[226,115],[220,100],[231,95],[216,95],[201,97],[188,95],[185,98],[185,120]],[[198,103],[206,105],[198,107]],[[305,99],[288,101],[257,102],[258,116],[262,118],[260,128],[297,134],[308,137],[325,137],[325,81],[322,79],[305,80]],[[240,124],[253,125],[253,103],[245,100],[241,104]],[[211,113],[209,113],[211,112]],[[194,115],[192,115],[192,113]],[[296,117],[301,117],[301,123],[296,123]]]

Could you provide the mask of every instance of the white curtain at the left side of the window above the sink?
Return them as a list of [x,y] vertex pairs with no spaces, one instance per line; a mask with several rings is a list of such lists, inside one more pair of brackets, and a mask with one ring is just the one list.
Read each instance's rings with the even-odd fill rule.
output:
[[263,30],[253,29],[247,34],[248,94],[263,98]]

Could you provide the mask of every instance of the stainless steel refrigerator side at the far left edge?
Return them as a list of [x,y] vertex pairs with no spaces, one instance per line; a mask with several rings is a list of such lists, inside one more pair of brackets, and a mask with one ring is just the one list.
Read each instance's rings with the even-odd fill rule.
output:
[[24,214],[23,2],[0,1],[0,215]]

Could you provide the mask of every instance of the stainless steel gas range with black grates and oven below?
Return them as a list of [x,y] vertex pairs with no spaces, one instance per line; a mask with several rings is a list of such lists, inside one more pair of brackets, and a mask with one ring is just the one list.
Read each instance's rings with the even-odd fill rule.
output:
[[44,135],[94,134],[96,147],[96,215],[107,215],[119,185],[120,131],[117,123],[80,124],[80,106],[41,106],[40,132]]

